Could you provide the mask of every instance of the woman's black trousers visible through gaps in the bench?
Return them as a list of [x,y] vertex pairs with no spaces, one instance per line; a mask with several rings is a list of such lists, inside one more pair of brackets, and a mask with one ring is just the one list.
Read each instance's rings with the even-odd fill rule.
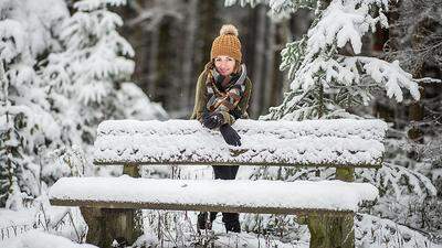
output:
[[[225,165],[212,165],[214,172],[214,179],[221,180],[234,180],[236,177],[239,165],[225,166]],[[217,218],[217,212],[210,212],[210,222]],[[222,222],[228,230],[232,228],[239,228],[240,226],[240,214],[238,213],[222,213]]]

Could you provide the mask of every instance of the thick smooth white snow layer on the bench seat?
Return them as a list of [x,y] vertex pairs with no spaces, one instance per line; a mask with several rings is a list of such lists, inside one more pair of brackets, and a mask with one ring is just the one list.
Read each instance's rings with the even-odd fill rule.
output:
[[62,177],[50,190],[51,200],[120,203],[281,207],[354,211],[373,201],[378,190],[368,183],[343,181],[157,180]]

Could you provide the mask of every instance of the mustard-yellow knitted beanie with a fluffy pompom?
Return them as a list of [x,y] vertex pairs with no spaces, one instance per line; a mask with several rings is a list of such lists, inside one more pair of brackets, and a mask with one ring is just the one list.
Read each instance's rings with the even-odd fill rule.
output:
[[220,36],[215,37],[210,51],[210,60],[217,56],[229,56],[241,63],[241,42],[238,39],[238,29],[232,24],[222,25]]

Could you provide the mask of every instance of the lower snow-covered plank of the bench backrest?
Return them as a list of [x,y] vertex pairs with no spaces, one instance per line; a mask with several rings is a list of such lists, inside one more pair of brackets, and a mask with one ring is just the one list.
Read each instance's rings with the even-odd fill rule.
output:
[[[208,134],[209,136],[209,134]],[[286,139],[254,137],[231,148],[221,137],[102,137],[94,143],[97,163],[231,163],[231,164],[377,164],[385,147],[375,140],[344,138]],[[270,145],[272,144],[272,145]]]

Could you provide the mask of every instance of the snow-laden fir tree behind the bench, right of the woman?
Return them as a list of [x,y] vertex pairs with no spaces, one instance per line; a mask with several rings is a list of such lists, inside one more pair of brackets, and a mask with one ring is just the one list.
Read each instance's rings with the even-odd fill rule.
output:
[[314,8],[315,20],[302,40],[283,50],[281,69],[288,69],[291,90],[281,106],[271,108],[261,119],[349,117],[348,109],[368,105],[372,93],[379,89],[386,89],[397,101],[402,101],[403,88],[419,99],[418,84],[398,61],[356,56],[361,52],[365,34],[375,32],[378,25],[388,26],[388,1],[304,0],[269,4],[272,13],[278,15]]

